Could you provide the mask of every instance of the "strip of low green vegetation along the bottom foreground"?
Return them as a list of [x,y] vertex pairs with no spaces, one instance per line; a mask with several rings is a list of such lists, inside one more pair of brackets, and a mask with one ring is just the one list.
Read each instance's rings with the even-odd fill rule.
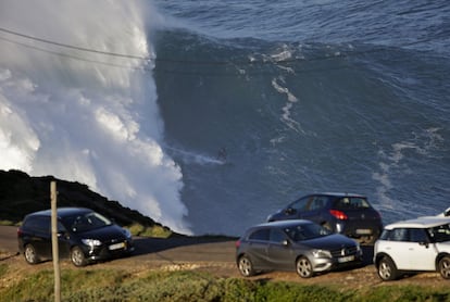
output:
[[[8,274],[0,266],[0,279]],[[385,286],[342,290],[295,282],[218,278],[205,273],[120,269],[62,272],[62,301],[450,301],[450,290],[416,286]],[[0,301],[52,301],[51,270],[23,276],[0,286]]]

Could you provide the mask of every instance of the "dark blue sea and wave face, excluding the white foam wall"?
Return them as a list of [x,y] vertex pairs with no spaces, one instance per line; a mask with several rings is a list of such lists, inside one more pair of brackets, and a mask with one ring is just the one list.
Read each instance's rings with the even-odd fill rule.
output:
[[154,5],[164,150],[195,234],[239,235],[314,191],[366,194],[385,223],[450,206],[449,1]]

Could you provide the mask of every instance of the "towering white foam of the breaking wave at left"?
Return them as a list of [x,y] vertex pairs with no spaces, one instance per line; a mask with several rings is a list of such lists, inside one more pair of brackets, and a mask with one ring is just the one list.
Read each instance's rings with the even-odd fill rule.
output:
[[182,173],[161,148],[147,36],[148,21],[160,17],[150,9],[137,1],[0,3],[0,27],[29,36],[0,32],[0,168],[85,183],[189,234]]

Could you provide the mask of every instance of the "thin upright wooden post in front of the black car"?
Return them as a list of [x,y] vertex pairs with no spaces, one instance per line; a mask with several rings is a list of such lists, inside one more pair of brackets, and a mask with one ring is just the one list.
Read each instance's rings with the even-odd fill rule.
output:
[[61,301],[60,253],[58,249],[57,181],[50,183],[51,198],[51,248],[54,270],[54,301]]

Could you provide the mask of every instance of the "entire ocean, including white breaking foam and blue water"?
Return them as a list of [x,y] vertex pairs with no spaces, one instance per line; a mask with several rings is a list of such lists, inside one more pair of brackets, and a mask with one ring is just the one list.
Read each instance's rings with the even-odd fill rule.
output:
[[0,4],[0,168],[197,235],[313,191],[450,206],[448,1],[26,5]]

